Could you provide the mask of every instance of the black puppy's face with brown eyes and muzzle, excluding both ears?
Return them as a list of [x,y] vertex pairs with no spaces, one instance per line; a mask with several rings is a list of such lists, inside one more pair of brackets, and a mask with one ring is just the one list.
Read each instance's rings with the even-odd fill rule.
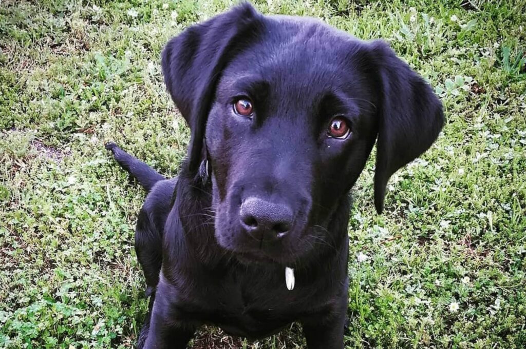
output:
[[[282,23],[308,40],[292,34],[301,25]],[[285,46],[264,35],[240,52],[208,115],[216,237],[254,258],[290,262],[330,244],[330,215],[376,139],[373,77],[341,46],[310,39]]]

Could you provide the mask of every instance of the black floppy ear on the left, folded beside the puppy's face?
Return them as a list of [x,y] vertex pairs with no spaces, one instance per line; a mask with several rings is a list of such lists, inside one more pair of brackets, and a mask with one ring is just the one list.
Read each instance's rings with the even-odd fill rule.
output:
[[165,84],[191,130],[190,173],[203,160],[205,127],[221,71],[261,29],[262,16],[241,4],[168,41],[161,65]]

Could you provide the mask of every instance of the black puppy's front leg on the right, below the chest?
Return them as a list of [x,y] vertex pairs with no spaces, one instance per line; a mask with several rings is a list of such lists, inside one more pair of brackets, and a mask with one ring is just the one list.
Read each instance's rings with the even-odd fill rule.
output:
[[313,317],[302,321],[309,349],[343,349],[346,310],[332,316]]

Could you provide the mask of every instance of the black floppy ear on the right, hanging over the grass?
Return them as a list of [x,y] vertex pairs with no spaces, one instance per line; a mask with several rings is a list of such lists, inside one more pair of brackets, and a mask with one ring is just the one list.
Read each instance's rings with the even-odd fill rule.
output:
[[385,41],[370,45],[380,83],[375,206],[381,213],[389,177],[431,146],[442,129],[444,115],[429,84]]

